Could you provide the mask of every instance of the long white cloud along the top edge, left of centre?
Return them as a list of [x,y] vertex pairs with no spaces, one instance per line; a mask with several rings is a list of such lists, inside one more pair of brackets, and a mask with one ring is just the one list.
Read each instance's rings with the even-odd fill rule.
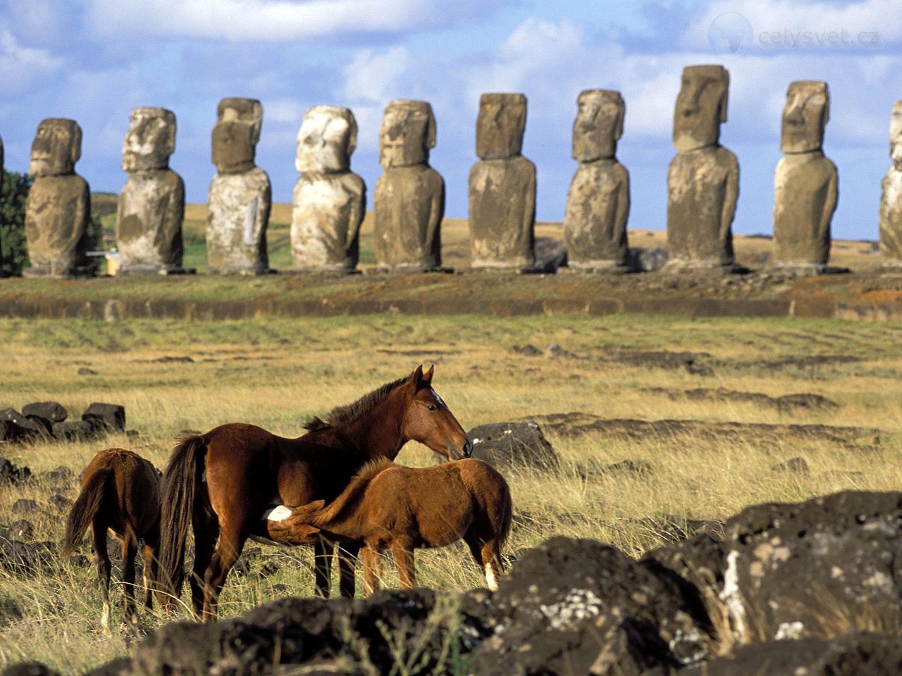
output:
[[94,0],[88,23],[106,35],[289,41],[428,28],[445,23],[453,6],[445,0]]

